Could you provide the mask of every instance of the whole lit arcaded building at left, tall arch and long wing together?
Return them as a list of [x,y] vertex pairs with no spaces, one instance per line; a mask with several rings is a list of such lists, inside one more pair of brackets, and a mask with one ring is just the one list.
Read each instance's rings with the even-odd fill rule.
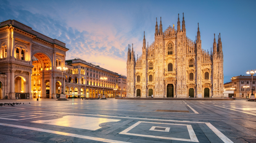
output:
[[[19,21],[2,21],[0,39],[0,99],[59,98],[62,91],[66,98],[110,98],[121,90],[121,75],[81,59],[66,61],[64,42]],[[67,68],[63,79],[58,67]]]

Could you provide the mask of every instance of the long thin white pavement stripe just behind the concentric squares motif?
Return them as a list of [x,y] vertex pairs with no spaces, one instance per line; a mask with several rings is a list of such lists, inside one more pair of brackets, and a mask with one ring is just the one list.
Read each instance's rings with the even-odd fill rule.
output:
[[[37,112],[47,112],[47,111],[40,111]],[[58,114],[72,114],[72,115],[92,115],[92,116],[99,116],[99,117],[114,117],[114,118],[132,118],[138,120],[156,120],[156,121],[166,121],[166,122],[185,122],[185,123],[205,123],[205,122],[193,122],[193,121],[180,121],[180,120],[164,120],[164,119],[154,119],[154,118],[134,118],[134,117],[118,117],[118,116],[109,116],[109,115],[94,115],[94,114],[79,114],[79,113],[65,113],[65,112],[50,112],[50,113],[58,113]]]

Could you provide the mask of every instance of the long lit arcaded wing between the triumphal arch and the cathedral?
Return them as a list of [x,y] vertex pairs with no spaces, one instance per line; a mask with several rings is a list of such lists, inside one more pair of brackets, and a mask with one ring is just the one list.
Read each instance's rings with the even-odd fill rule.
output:
[[[109,71],[81,59],[66,60],[65,94],[72,98],[114,98],[118,87],[116,72]],[[101,77],[107,77],[102,80]]]

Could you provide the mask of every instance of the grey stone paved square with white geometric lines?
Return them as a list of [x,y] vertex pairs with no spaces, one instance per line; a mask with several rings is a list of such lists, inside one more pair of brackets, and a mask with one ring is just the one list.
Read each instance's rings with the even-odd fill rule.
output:
[[0,107],[1,143],[256,142],[255,102],[244,100],[19,102]]

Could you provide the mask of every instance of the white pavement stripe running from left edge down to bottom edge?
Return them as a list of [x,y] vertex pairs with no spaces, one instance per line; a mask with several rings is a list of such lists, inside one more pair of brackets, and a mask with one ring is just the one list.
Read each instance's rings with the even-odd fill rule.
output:
[[14,128],[30,129],[30,130],[34,130],[34,131],[41,131],[41,132],[52,133],[52,134],[59,134],[62,136],[78,137],[81,139],[89,139],[89,140],[100,141],[100,142],[123,142],[123,141],[117,141],[117,140],[112,140],[112,139],[104,139],[104,138],[100,138],[100,137],[91,137],[91,136],[83,136],[80,134],[65,133],[62,131],[52,131],[49,129],[34,128],[34,127],[29,127],[29,126],[11,125],[11,124],[7,124],[7,123],[0,123],[0,125],[1,126],[10,126],[10,127],[14,127]]

